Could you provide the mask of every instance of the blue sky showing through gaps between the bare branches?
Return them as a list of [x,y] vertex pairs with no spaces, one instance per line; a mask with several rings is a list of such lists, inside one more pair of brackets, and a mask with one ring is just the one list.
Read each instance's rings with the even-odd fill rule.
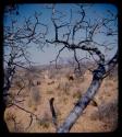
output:
[[[49,32],[47,37],[48,38],[53,38],[54,37],[54,32],[53,32],[53,25],[52,22],[50,20],[51,16],[51,9],[47,9],[46,8],[47,4],[19,4],[19,12],[20,14],[17,16],[12,16],[14,19],[17,20],[19,25],[21,26],[23,24],[23,19],[24,18],[28,18],[34,15],[35,11],[38,13],[42,13],[40,16],[40,21],[44,24],[47,24],[49,26]],[[50,4],[51,5],[51,4]],[[50,7],[48,5],[48,7]],[[56,9],[58,11],[64,12],[65,13],[65,21],[69,21],[70,19],[70,9],[72,9],[73,12],[77,11],[77,5],[74,5],[72,3],[60,3],[60,4],[56,4]],[[105,12],[106,10],[110,10],[112,13],[118,13],[118,9],[112,5],[112,4],[94,4],[91,7],[86,7],[86,11],[87,11],[87,16],[88,19],[95,19],[95,20],[100,20],[100,18],[105,16],[108,18],[108,14]],[[94,18],[93,18],[94,16]],[[78,20],[78,15],[73,14],[73,21]],[[88,20],[87,19],[87,20]],[[95,21],[94,20],[94,21]],[[4,18],[4,25],[10,25],[11,22],[11,18]],[[66,30],[61,30],[63,32],[65,32]],[[84,34],[82,34],[84,35]],[[84,37],[84,36],[83,36]],[[76,41],[78,42],[81,38],[81,33],[77,33],[76,36]],[[113,43],[113,37],[105,37],[103,35],[97,35],[95,37],[95,39],[99,43],[103,43],[103,42],[109,42],[109,43]],[[113,56],[114,52],[118,48],[118,36],[115,37],[117,43],[113,44],[114,48],[113,50],[106,53],[107,58],[110,58]],[[44,47],[44,52],[41,52],[38,47],[38,45],[35,45],[34,43],[29,44],[29,53],[30,53],[30,58],[34,62],[36,62],[36,65],[45,65],[45,64],[49,64],[51,60],[53,60],[58,54],[58,50],[62,47],[61,45],[59,45],[58,47],[54,47],[54,45],[49,45],[48,47],[45,46]],[[99,47],[102,52],[102,47]],[[103,52],[105,54],[105,52]],[[77,52],[78,56],[86,56],[85,52]],[[73,53],[68,49],[65,49],[63,53],[61,53],[61,57],[63,59],[65,58],[71,58],[73,56]]]

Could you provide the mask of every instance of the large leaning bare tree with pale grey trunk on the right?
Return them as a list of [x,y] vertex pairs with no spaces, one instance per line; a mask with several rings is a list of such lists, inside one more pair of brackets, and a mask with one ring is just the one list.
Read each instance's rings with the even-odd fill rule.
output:
[[[107,14],[109,14],[108,18],[99,18],[95,19],[93,16],[91,19],[88,19],[87,15],[87,4],[76,4],[74,7],[77,7],[76,14],[80,15],[77,20],[73,21],[73,14],[75,12],[70,10],[70,19],[65,19],[65,13],[59,11],[57,9],[57,4],[52,4],[52,15],[51,21],[54,28],[54,36],[52,39],[47,39],[47,43],[61,46],[59,49],[59,53],[56,57],[56,64],[57,60],[64,49],[69,49],[74,53],[74,59],[76,65],[76,68],[80,73],[81,72],[81,60],[88,58],[89,60],[93,59],[97,68],[94,68],[94,70],[90,70],[93,72],[93,80],[87,89],[86,93],[77,101],[74,109],[70,112],[69,116],[65,118],[64,123],[57,128],[58,133],[69,133],[72,126],[76,123],[78,117],[82,115],[83,111],[86,109],[88,103],[93,100],[95,94],[98,92],[102,80],[108,76],[108,73],[111,71],[111,69],[118,64],[118,49],[114,56],[107,61],[106,56],[103,52],[100,49],[100,47],[103,47],[110,50],[109,46],[111,46],[111,43],[109,42],[109,37],[112,37],[113,39],[118,36],[118,16],[117,14],[112,13],[112,11],[106,11]],[[60,15],[59,15],[60,14]],[[112,24],[112,25],[111,25]],[[61,30],[66,30],[62,31]],[[96,36],[99,35],[106,35],[108,37],[108,42],[98,43],[96,41]],[[77,36],[81,36],[80,39],[77,39]],[[89,57],[77,57],[77,50],[86,52],[89,54]],[[51,107],[53,105],[51,104]],[[54,110],[54,109],[53,109]],[[54,119],[56,125],[56,115],[52,116]]]

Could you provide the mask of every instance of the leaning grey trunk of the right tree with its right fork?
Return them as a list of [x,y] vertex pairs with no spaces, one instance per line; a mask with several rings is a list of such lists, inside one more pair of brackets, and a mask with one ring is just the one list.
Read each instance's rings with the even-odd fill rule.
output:
[[95,96],[99,90],[103,76],[117,65],[118,62],[118,52],[114,57],[108,62],[108,65],[100,65],[98,69],[94,71],[93,81],[86,91],[86,93],[78,100],[74,109],[71,111],[64,123],[58,128],[57,133],[69,133],[72,126],[76,123],[78,117],[82,115],[83,111],[86,109],[88,103]]

